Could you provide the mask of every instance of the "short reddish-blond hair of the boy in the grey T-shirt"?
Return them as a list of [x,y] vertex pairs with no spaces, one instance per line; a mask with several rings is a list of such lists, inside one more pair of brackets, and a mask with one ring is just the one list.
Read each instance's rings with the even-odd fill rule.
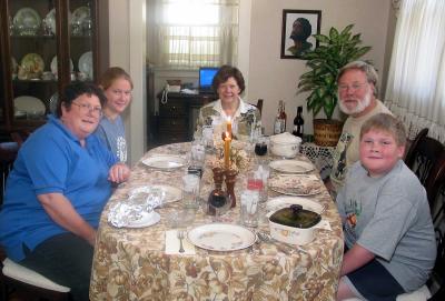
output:
[[360,129],[360,140],[365,133],[372,130],[385,131],[392,134],[398,147],[406,144],[405,126],[392,114],[378,113],[366,120]]

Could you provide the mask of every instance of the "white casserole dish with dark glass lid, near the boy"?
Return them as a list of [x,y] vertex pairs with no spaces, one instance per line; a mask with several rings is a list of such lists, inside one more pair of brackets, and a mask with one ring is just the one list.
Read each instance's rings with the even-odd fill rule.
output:
[[270,235],[290,244],[306,244],[314,240],[314,229],[322,215],[300,204],[281,208],[269,215]]

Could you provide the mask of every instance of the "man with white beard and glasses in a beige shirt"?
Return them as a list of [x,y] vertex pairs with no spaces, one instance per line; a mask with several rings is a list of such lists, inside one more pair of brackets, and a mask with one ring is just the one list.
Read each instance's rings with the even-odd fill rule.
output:
[[374,67],[364,61],[344,66],[337,77],[338,103],[348,114],[334,154],[328,190],[336,194],[343,187],[348,168],[358,161],[358,144],[362,124],[377,113],[392,112],[377,97],[378,76]]

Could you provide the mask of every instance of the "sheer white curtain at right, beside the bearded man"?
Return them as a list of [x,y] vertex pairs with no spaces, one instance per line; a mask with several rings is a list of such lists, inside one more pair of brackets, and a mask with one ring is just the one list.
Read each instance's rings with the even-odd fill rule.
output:
[[403,0],[385,100],[411,137],[445,142],[445,0]]

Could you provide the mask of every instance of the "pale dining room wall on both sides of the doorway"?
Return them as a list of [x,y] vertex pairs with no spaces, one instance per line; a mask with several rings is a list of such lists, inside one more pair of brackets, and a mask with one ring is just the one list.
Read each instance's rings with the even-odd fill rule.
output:
[[[135,80],[134,101],[125,116],[130,159],[136,162],[145,152],[145,0],[109,0],[110,66],[121,66]],[[306,71],[305,61],[280,59],[281,18],[284,9],[322,10],[322,33],[330,27],[344,28],[355,23],[354,32],[362,33],[364,44],[372,46],[365,59],[378,70],[386,71],[389,63],[394,20],[389,20],[390,1],[387,0],[240,0],[238,68],[247,81],[245,96],[256,103],[265,100],[263,122],[270,133],[278,100],[286,101],[288,130],[297,106],[304,106],[305,131],[313,132],[312,112],[306,112],[305,96],[296,96],[298,78]],[[142,24],[142,26],[141,26]],[[386,74],[382,74],[383,81]],[[186,77],[188,77],[187,74]],[[162,79],[164,80],[164,79]]]

